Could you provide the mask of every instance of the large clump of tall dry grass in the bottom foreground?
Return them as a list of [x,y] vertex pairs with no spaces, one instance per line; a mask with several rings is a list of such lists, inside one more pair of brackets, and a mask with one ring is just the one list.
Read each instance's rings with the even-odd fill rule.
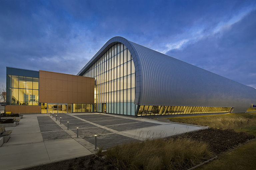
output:
[[183,169],[208,160],[208,145],[191,139],[153,139],[116,145],[106,151],[106,159],[117,168],[133,170]]

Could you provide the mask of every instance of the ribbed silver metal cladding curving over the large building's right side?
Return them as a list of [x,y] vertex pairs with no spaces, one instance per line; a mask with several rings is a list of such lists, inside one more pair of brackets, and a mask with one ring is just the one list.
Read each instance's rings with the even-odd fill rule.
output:
[[256,90],[131,42],[141,64],[139,105],[234,107],[246,112]]

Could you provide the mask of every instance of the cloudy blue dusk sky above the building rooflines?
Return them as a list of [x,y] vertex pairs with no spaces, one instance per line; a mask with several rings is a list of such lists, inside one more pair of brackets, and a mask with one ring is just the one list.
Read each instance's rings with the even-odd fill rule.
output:
[[121,36],[256,88],[256,1],[0,1],[6,66],[77,74]]

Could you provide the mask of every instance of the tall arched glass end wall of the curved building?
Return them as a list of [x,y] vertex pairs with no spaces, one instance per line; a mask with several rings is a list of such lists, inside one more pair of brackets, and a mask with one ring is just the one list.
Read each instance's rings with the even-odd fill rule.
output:
[[109,48],[83,76],[96,79],[96,112],[135,115],[135,67],[124,44]]

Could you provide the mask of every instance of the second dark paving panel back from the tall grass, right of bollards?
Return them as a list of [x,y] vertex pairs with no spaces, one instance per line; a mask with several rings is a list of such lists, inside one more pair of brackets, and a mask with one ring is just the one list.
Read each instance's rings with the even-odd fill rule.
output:
[[[73,129],[73,132],[77,133],[77,129]],[[109,130],[103,129],[103,128],[87,128],[87,129],[78,129],[78,135],[81,137],[85,136],[94,136],[95,134],[101,135],[101,134],[106,134],[106,133],[112,133]]]

